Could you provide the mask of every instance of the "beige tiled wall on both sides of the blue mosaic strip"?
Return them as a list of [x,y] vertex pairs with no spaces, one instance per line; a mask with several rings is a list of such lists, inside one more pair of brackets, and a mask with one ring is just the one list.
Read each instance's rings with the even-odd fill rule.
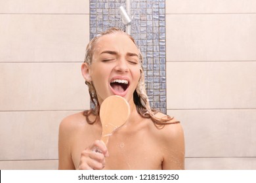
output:
[[[253,0],[166,1],[167,112],[186,169],[256,169],[255,12]],[[89,107],[89,1],[0,1],[0,27],[0,169],[56,169],[60,120]]]

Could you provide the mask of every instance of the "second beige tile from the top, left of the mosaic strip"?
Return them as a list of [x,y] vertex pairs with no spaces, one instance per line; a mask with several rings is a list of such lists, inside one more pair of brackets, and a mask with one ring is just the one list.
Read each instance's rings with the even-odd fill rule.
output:
[[1,62],[83,61],[89,41],[88,14],[1,14],[0,26]]

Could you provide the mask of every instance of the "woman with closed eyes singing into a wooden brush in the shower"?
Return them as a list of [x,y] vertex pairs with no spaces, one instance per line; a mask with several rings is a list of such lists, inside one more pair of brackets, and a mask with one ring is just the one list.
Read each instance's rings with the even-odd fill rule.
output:
[[[181,124],[150,108],[142,55],[130,35],[117,28],[97,35],[87,46],[81,71],[95,108],[60,123],[59,169],[184,169]],[[131,115],[106,146],[98,140],[98,114],[110,95],[125,98]]]

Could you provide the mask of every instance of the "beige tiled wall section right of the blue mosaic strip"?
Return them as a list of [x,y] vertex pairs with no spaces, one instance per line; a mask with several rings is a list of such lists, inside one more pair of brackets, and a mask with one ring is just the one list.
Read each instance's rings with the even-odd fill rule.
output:
[[256,169],[256,1],[165,2],[167,113],[186,169]]

